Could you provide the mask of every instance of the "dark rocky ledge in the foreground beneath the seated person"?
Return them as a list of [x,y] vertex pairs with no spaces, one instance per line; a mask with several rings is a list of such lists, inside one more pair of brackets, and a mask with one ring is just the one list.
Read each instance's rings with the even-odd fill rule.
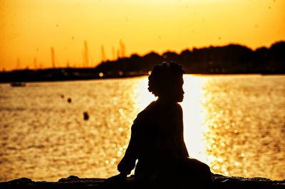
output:
[[[55,188],[105,188],[105,189],[135,189],[135,180],[130,176],[125,183],[116,183],[113,185],[106,185],[105,178],[78,178],[71,175],[68,178],[61,178],[58,182],[33,181],[29,178],[19,178],[7,182],[0,183],[0,188],[41,188],[41,189],[55,189]],[[265,188],[265,189],[285,189],[285,180],[269,180],[268,178],[242,178],[242,177],[228,177],[224,175],[214,174],[214,180],[217,187],[220,189],[247,189],[247,188]]]

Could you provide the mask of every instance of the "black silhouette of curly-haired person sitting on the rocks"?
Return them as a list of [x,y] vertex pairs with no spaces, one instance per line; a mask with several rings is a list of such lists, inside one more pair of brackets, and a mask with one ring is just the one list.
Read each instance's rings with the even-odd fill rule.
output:
[[153,68],[148,90],[158,98],[138,114],[118,164],[120,174],[107,181],[123,181],[135,168],[135,180],[142,188],[214,188],[209,166],[189,158],[185,146],[182,108],[177,103],[183,100],[184,72],[177,63]]

